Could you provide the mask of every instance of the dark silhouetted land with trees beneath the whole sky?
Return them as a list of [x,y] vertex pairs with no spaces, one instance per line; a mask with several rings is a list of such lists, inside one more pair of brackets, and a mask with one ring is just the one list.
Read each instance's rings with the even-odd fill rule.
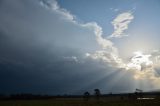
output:
[[160,106],[160,92],[101,94],[95,89],[83,95],[0,94],[0,106]]

